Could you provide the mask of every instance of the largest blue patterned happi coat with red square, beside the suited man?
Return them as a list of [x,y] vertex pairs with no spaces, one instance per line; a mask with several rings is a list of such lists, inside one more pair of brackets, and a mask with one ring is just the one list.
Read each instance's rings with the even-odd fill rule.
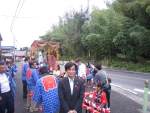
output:
[[37,81],[32,100],[42,104],[43,113],[54,113],[60,107],[58,97],[58,79],[46,75]]

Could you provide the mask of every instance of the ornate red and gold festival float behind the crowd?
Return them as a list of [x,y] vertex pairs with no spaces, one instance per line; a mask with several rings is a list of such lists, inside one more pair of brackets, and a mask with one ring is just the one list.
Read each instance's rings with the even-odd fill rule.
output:
[[44,40],[35,40],[30,49],[32,60],[38,59],[38,63],[47,61],[49,68],[55,69],[55,65],[59,59],[59,42],[49,42]]

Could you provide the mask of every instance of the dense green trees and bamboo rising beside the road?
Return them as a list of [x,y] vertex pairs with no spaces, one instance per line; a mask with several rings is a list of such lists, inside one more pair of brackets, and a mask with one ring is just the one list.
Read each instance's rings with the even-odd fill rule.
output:
[[140,63],[150,59],[150,0],[116,0],[108,9],[65,13],[40,39],[61,42],[61,56]]

